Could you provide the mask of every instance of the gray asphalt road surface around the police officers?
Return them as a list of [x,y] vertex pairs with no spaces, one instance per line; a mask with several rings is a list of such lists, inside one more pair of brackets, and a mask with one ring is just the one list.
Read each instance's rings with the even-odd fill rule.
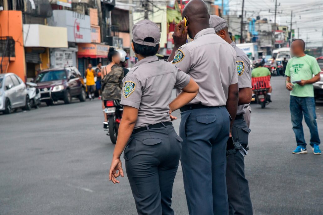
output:
[[[273,78],[266,109],[252,104],[245,174],[254,214],[323,214],[322,155],[292,154],[284,82]],[[323,104],[317,117],[323,139]],[[127,177],[108,181],[114,145],[102,119],[99,100],[0,115],[0,214],[136,214]],[[306,125],[305,134],[309,141]],[[181,168],[172,200],[176,214],[188,214]]]

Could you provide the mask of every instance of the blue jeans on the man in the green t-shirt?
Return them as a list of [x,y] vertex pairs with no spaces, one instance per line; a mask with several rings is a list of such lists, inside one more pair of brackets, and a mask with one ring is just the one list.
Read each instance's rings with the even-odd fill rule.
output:
[[289,108],[297,146],[306,146],[302,125],[303,114],[305,122],[311,133],[310,145],[319,145],[320,138],[318,137],[318,125],[316,123],[314,97],[297,97],[291,95]]

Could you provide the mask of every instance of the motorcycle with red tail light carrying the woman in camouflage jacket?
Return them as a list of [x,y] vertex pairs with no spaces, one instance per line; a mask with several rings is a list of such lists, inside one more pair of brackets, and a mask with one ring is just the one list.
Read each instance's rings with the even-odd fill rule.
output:
[[106,100],[104,101],[104,105],[104,111],[108,117],[108,124],[104,124],[104,128],[107,135],[110,136],[111,142],[116,144],[123,107],[120,105],[119,100]]

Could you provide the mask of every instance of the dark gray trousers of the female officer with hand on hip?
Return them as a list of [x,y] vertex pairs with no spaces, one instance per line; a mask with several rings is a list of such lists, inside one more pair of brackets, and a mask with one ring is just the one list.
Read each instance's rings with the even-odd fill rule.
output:
[[131,135],[124,159],[138,214],[174,214],[172,188],[181,156],[181,142],[172,126]]

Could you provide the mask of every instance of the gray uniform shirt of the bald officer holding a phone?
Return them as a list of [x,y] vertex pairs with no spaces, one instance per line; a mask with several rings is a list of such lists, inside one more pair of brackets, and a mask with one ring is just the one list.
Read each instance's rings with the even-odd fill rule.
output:
[[172,63],[188,73],[200,87],[190,104],[223,106],[229,85],[238,82],[235,51],[213,28],[203,29],[192,42],[180,47]]

